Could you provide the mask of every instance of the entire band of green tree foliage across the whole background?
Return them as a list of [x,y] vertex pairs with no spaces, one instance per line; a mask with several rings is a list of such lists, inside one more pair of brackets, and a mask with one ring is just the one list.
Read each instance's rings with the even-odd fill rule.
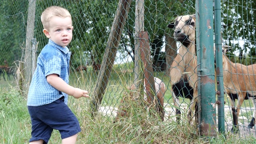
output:
[[[62,6],[68,9],[73,20],[73,40],[69,45],[72,51],[72,64],[84,65],[91,62],[93,56],[97,63],[102,61],[109,32],[116,14],[118,1],[111,0],[37,0],[35,38],[38,42],[38,52],[42,50],[48,39],[42,33],[43,27],[40,14],[48,6]],[[131,54],[134,50],[135,26],[134,0],[131,4],[126,26],[118,51]],[[166,36],[172,37],[172,30],[166,28],[176,16],[194,14],[195,0],[145,0],[144,30],[149,34],[153,63],[164,60],[166,52],[163,47]],[[242,63],[255,63],[256,60],[246,60],[256,57],[254,20],[256,2],[253,0],[222,1],[223,41],[234,47],[235,54],[240,56]],[[7,60],[9,64],[22,57],[22,47],[26,40],[26,20],[28,1],[1,0],[0,2],[0,64]],[[169,44],[170,45],[170,44]],[[14,54],[13,54],[14,53]],[[234,58],[233,58],[234,59]],[[248,59],[248,58],[247,58]],[[234,59],[235,60],[235,59]],[[250,62],[248,62],[250,61]]]

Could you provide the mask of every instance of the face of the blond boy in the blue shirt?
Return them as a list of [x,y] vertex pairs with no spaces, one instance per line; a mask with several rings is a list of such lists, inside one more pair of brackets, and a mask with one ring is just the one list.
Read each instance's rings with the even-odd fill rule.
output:
[[72,40],[73,28],[70,17],[61,18],[54,16],[50,19],[49,28],[47,30],[44,29],[43,32],[47,38],[50,38],[56,44],[64,48]]

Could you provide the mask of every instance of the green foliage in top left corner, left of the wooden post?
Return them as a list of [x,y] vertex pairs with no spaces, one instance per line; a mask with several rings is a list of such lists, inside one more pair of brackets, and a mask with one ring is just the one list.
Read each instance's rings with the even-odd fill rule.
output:
[[0,65],[9,66],[20,60],[26,40],[28,1],[1,0],[0,2]]

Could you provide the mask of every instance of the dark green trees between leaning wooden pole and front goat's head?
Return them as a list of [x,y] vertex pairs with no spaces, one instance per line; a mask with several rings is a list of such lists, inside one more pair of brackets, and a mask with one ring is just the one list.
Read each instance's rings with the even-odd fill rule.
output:
[[[144,27],[150,37],[150,47],[152,51],[153,64],[166,59],[168,65],[171,64],[172,57],[176,54],[176,41],[173,39],[173,32],[166,28],[176,15],[194,14],[193,8],[195,0],[147,0],[145,1],[145,21]],[[135,2],[131,4],[131,12],[128,16],[128,26],[124,31],[126,37],[123,38],[122,46],[129,46],[134,52],[134,20]],[[121,47],[122,47],[121,46]],[[165,47],[165,52],[161,50]],[[123,48],[127,49],[127,48]]]

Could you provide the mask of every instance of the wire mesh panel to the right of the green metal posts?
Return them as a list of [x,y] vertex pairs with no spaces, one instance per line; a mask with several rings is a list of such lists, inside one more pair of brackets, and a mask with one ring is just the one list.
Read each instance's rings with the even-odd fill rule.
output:
[[[235,108],[238,107],[238,105],[241,106],[238,116],[240,136],[252,134],[254,135],[254,137],[256,134],[255,127],[252,126],[252,129],[248,127],[253,115],[255,118],[255,68],[252,67],[254,65],[251,65],[255,64],[256,62],[256,39],[254,35],[256,28],[256,22],[254,19],[254,13],[256,12],[255,6],[256,3],[252,0],[223,0],[221,14],[223,44],[231,46],[231,50],[226,54],[226,57],[228,58],[226,60],[230,60],[234,63],[232,67],[230,67],[231,64],[228,64],[226,68],[224,68],[223,66],[224,90],[226,93],[230,93],[230,91],[232,91],[233,93],[232,96],[230,95],[231,98],[227,94],[228,102],[226,102],[225,105],[225,122],[227,125],[226,130],[230,131],[233,126],[232,120],[234,120],[234,117],[232,116],[231,106],[233,104],[231,99],[236,98],[236,104],[234,104],[233,106]],[[241,66],[240,64],[243,64],[244,66]],[[243,72],[241,72],[240,70],[242,70]],[[229,74],[225,74],[225,71]],[[246,75],[248,76],[248,78]],[[228,80],[228,78],[230,79]],[[245,88],[245,84],[248,84],[249,86],[246,86]],[[234,96],[234,94],[237,95]],[[244,102],[238,100],[237,98],[239,97],[240,99],[244,99]],[[252,101],[248,100],[248,98],[252,99]],[[255,122],[255,119],[253,119],[252,122]]]

